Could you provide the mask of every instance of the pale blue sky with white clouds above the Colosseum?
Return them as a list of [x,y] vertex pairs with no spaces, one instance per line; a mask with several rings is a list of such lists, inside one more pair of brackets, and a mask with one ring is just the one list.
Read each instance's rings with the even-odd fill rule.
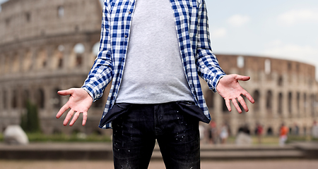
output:
[[318,79],[317,0],[206,0],[206,6],[215,54],[310,63]]

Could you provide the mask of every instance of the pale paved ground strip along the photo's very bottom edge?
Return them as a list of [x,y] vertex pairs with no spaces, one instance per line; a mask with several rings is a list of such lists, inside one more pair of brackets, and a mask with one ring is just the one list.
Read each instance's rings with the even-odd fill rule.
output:
[[[1,169],[113,168],[111,161],[0,161]],[[318,169],[318,161],[203,161],[202,169]],[[163,161],[151,161],[149,169],[165,169]]]

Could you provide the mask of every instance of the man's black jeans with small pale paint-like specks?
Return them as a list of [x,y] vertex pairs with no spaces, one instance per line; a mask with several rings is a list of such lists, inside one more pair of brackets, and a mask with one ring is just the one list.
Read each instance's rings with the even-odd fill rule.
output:
[[148,168],[155,139],[166,168],[200,168],[199,120],[177,102],[132,104],[112,129],[115,169]]

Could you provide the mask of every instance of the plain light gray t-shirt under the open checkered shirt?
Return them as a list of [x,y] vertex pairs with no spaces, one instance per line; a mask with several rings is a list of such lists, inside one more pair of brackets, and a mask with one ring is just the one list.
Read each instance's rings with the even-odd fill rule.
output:
[[169,0],[138,0],[116,103],[193,101]]

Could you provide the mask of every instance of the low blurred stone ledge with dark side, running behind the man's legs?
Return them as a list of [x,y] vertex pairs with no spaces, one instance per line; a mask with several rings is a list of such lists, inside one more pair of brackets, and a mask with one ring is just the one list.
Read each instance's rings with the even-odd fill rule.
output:
[[[314,149],[314,146],[308,146],[308,149]],[[204,161],[264,160],[265,158],[301,159],[307,156],[305,152],[307,151],[296,149],[294,146],[201,145],[201,159]],[[318,146],[315,152],[318,153]],[[311,154],[308,156],[311,156]],[[152,158],[162,159],[158,145],[155,146]],[[318,159],[318,156],[316,158]],[[104,143],[33,143],[18,146],[0,143],[0,159],[35,161],[112,160],[112,145]]]

